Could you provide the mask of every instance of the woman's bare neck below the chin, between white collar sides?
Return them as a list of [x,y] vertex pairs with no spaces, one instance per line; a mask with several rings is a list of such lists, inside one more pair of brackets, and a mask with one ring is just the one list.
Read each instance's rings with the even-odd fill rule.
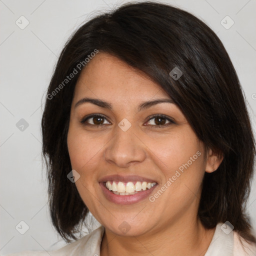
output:
[[215,228],[205,229],[199,219],[189,218],[164,225],[159,232],[139,236],[120,236],[105,228],[100,255],[203,256],[214,231]]

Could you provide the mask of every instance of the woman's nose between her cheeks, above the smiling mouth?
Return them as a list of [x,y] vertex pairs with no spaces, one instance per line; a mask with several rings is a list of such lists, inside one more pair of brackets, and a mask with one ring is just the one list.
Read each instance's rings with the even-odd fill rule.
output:
[[126,131],[116,125],[113,138],[105,147],[105,161],[123,168],[135,162],[142,162],[146,157],[146,146],[138,133],[133,125]]

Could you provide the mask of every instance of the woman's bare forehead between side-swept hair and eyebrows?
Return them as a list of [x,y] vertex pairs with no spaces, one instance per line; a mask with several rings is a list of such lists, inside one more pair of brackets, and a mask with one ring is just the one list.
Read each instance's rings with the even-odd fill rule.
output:
[[[81,71],[74,97],[117,97],[119,99],[148,99],[168,94],[145,74],[108,53],[97,53]],[[77,98],[78,99],[78,98]]]

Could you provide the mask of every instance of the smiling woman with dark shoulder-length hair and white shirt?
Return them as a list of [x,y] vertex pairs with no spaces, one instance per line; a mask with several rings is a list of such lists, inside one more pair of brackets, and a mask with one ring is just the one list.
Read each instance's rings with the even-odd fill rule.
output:
[[[192,14],[130,3],[82,25],[56,64],[42,137],[52,223],[76,241],[19,255],[255,255],[244,97]],[[101,226],[77,240],[88,211]]]

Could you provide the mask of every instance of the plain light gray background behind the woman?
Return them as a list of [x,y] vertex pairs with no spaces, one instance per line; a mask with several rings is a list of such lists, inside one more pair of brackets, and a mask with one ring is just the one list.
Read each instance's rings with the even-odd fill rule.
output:
[[[47,209],[45,169],[41,169],[40,119],[45,90],[63,44],[71,32],[98,11],[128,1],[0,0],[0,253],[63,246]],[[163,1],[162,1],[163,2]],[[235,66],[255,131],[255,0],[168,0],[208,24],[219,36]],[[29,24],[20,29],[23,15]],[[234,24],[220,21],[228,15]],[[225,22],[225,21],[224,21]],[[226,21],[230,24],[230,20]],[[22,21],[24,24],[24,20]],[[24,118],[23,131],[16,123]],[[256,229],[255,178],[248,211]],[[22,235],[15,226],[25,221]],[[97,226],[95,223],[95,227]],[[85,230],[86,232],[86,230]]]

